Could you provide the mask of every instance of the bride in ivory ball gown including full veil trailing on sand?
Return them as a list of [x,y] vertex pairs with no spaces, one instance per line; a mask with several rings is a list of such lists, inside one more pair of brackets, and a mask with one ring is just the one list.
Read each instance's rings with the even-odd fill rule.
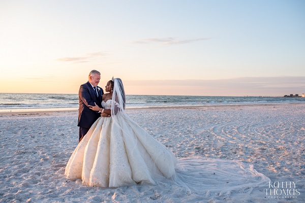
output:
[[162,181],[171,188],[206,197],[232,192],[247,196],[270,181],[240,161],[187,157],[180,158],[177,165],[173,153],[126,114],[122,81],[110,80],[105,88],[109,93],[103,95],[102,106],[111,109],[111,116],[97,105],[90,107],[101,111],[102,117],[70,157],[65,171],[68,179],[82,179],[85,185],[99,187]]

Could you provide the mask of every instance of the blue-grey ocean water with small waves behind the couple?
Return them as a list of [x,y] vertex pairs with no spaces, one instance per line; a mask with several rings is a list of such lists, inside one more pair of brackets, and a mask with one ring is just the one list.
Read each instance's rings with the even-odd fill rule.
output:
[[[304,97],[127,95],[126,108],[305,103]],[[0,112],[78,109],[77,94],[0,93]]]

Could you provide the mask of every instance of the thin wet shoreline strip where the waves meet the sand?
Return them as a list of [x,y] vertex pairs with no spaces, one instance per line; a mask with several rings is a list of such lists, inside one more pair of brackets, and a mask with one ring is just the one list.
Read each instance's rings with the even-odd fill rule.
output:
[[[224,104],[224,105],[190,105],[190,106],[167,106],[167,107],[127,107],[126,110],[156,110],[156,109],[209,109],[223,107],[253,107],[253,106],[285,106],[285,105],[304,105],[305,103],[272,103],[272,104]],[[54,109],[11,109],[11,111],[1,111],[2,115],[37,115],[52,114],[63,112],[78,112],[78,108],[54,108]]]

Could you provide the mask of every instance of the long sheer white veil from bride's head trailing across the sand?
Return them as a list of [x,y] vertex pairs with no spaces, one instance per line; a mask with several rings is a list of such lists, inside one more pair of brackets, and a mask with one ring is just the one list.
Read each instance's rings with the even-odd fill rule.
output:
[[[133,153],[141,152],[141,150],[149,151],[150,157],[143,156],[143,158],[152,160],[151,164],[154,164],[154,167],[150,168],[155,168],[155,171],[150,170],[145,173],[151,173],[151,177],[154,177],[154,180],[162,180],[162,182],[169,184],[174,183],[173,187],[205,196],[215,194],[229,195],[231,193],[244,193],[247,195],[254,188],[262,187],[270,181],[269,178],[258,173],[252,165],[248,166],[240,161],[203,159],[202,157],[181,158],[177,161],[172,153],[169,153],[170,156],[165,156],[167,149],[163,151],[151,145],[155,142],[152,142],[154,138],[149,136],[144,129],[126,114],[125,104],[126,95],[123,83],[121,79],[115,78],[111,107],[113,125],[126,132],[124,133],[125,144],[130,145],[128,149],[133,149],[127,152],[128,157],[131,157],[130,164],[139,163],[138,160],[132,159],[132,157],[139,157],[133,156]],[[125,123],[131,123],[136,129],[142,129],[141,136],[135,138],[133,136],[134,133],[130,131],[132,129],[124,125]],[[138,146],[142,146],[142,149],[136,150]],[[164,146],[164,148],[166,147]],[[164,161],[159,161],[160,159],[165,160],[166,164],[164,164]],[[160,172],[166,179],[160,176]],[[159,178],[156,179],[156,177]]]

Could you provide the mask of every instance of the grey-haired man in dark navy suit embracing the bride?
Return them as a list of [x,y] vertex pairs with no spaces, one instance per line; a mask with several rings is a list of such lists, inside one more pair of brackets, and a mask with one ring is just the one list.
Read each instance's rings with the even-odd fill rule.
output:
[[88,82],[82,84],[78,91],[79,109],[78,109],[78,124],[80,142],[88,132],[92,124],[101,116],[99,111],[90,110],[88,105],[98,105],[102,108],[102,95],[104,91],[98,86],[101,79],[101,73],[93,70],[89,73]]

